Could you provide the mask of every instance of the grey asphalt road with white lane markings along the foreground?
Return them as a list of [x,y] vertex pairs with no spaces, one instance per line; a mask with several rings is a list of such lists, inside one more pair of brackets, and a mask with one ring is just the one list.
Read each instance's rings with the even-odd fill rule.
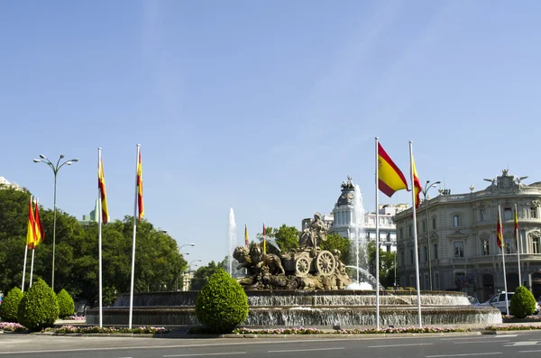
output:
[[0,335],[0,358],[363,357],[444,358],[541,356],[541,331],[430,337],[142,338]]

